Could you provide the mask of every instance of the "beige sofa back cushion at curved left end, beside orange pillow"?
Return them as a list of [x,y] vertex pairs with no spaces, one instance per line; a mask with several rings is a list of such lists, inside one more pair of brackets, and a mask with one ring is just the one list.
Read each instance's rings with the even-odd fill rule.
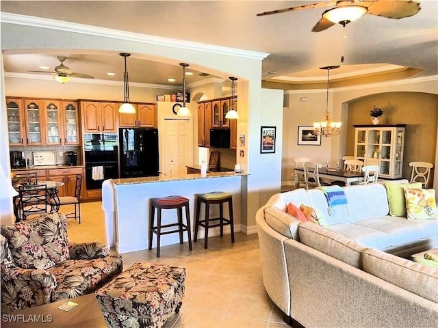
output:
[[279,210],[279,208],[273,206],[265,208],[265,220],[279,234],[297,240],[300,221],[285,213],[284,210]]

